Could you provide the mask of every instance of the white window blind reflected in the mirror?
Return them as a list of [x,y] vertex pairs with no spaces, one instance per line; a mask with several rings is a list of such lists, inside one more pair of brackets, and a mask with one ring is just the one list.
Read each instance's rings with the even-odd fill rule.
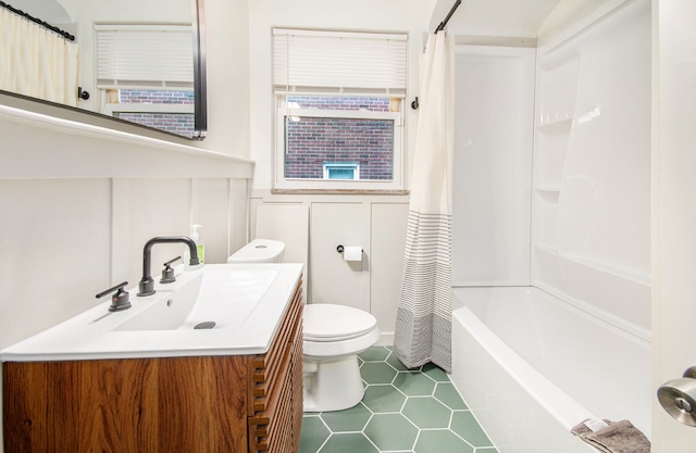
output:
[[177,25],[96,25],[99,88],[194,88],[192,32]]

